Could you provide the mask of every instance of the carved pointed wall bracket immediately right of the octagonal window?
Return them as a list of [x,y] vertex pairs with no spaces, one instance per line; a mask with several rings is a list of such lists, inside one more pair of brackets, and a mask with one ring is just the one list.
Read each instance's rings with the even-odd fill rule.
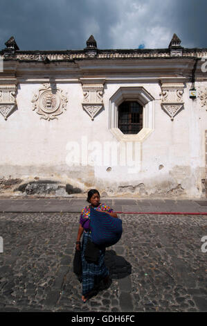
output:
[[174,120],[174,116],[183,108],[183,84],[162,84],[163,110]]

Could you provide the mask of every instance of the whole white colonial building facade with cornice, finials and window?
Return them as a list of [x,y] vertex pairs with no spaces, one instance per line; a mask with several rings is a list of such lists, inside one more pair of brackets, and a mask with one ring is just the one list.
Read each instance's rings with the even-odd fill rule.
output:
[[0,55],[0,196],[206,197],[207,49]]

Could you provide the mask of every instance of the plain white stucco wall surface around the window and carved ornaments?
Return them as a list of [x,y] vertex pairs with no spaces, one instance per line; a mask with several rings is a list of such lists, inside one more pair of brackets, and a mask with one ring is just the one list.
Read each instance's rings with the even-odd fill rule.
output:
[[[197,87],[200,84],[207,87],[207,83],[197,83]],[[119,143],[109,130],[110,98],[119,87],[129,86],[144,87],[154,97],[154,130],[138,144],[140,161],[134,172],[130,166],[113,165],[110,161],[105,164],[103,160],[106,142]],[[207,113],[206,108],[201,108],[199,98],[189,98],[190,84],[184,88],[184,108],[174,121],[161,108],[158,82],[106,82],[104,110],[94,121],[82,109],[82,85],[78,81],[57,83],[68,98],[66,110],[57,119],[40,119],[31,103],[40,87],[41,83],[19,83],[17,110],[7,121],[3,117],[0,119],[1,180],[19,178],[23,184],[39,178],[60,182],[61,185],[70,184],[82,191],[96,187],[110,196],[205,196],[201,180],[206,177],[204,141]],[[76,165],[69,164],[71,155],[75,153],[70,147],[71,142],[76,142],[80,149],[80,162]],[[86,144],[89,145],[88,151]],[[90,146],[94,146],[93,151]],[[84,164],[82,155],[88,153],[89,159],[95,151],[101,164]],[[107,171],[109,167],[111,171]],[[15,187],[2,188],[0,195]],[[12,194],[19,195],[21,191]],[[60,195],[67,196],[64,191]]]

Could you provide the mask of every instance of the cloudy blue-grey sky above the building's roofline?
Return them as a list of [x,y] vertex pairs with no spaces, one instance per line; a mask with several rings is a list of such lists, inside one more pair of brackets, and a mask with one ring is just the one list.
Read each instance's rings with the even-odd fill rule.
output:
[[0,0],[0,49],[165,49],[174,33],[185,48],[207,48],[207,0]]

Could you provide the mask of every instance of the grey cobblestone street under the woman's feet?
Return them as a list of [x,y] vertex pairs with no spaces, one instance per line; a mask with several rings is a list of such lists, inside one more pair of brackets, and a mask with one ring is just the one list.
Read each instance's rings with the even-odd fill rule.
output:
[[77,213],[0,213],[0,311],[207,311],[207,216],[120,214],[112,283],[83,304]]

